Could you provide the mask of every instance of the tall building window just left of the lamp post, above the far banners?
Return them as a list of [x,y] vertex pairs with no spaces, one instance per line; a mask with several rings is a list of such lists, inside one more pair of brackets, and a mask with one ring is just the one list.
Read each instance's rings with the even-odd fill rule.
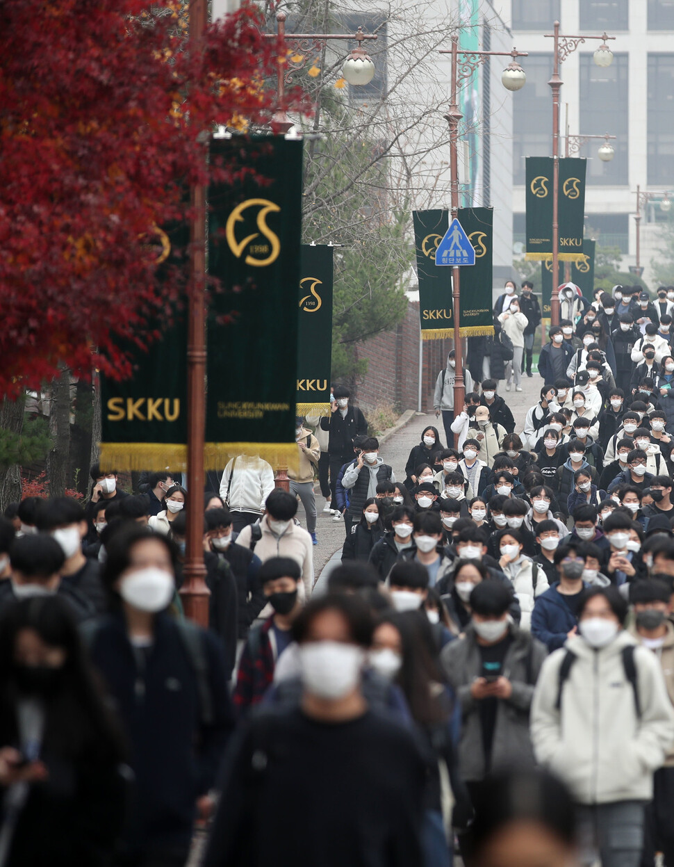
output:
[[525,157],[552,153],[553,104],[548,81],[553,74],[553,55],[530,54],[526,61],[526,87],[513,95],[514,184],[525,181]]

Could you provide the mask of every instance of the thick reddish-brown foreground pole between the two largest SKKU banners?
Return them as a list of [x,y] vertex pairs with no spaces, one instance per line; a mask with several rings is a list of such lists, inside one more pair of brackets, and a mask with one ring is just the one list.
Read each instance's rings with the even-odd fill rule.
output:
[[[191,0],[190,50],[203,49],[206,29],[206,0]],[[206,150],[204,146],[204,163]],[[191,504],[187,509],[185,544],[185,583],[180,597],[185,615],[208,629],[209,596],[204,565],[204,433],[206,419],[206,192],[203,184],[191,187],[191,244],[189,324],[187,338],[187,487]]]

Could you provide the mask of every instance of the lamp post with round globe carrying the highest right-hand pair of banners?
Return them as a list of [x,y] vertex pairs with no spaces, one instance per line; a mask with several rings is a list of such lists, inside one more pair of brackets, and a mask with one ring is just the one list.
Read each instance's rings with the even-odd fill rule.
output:
[[550,314],[553,325],[560,323],[560,288],[557,285],[557,276],[559,274],[559,244],[560,244],[560,226],[557,218],[557,207],[559,205],[559,186],[560,186],[560,91],[561,81],[560,64],[564,62],[568,55],[585,42],[587,39],[600,39],[601,45],[594,52],[594,62],[597,66],[611,66],[613,62],[613,53],[606,45],[607,40],[615,39],[615,36],[606,36],[602,33],[601,36],[564,36],[560,33],[559,21],[554,22],[554,33],[546,33],[546,38],[554,39],[554,65],[553,75],[548,84],[552,90],[553,96],[553,291],[550,303]]

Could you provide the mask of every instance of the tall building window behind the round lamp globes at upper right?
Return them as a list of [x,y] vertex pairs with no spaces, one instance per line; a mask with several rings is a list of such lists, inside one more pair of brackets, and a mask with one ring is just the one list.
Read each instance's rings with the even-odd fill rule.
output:
[[[597,149],[603,140],[591,139],[582,145],[577,156],[587,157],[588,185],[627,184],[628,127],[627,55],[614,53],[611,66],[599,67],[593,55],[580,55],[580,135],[615,135],[611,141],[615,155],[602,162]],[[571,130],[574,134],[574,130]]]

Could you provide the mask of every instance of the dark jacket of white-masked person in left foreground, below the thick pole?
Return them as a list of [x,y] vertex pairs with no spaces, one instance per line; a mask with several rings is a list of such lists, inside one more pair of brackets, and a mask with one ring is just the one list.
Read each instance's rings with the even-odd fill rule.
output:
[[222,648],[210,632],[200,635],[210,723],[204,720],[198,678],[172,616],[155,617],[152,647],[140,654],[120,615],[102,618],[92,636],[91,660],[124,724],[135,775],[125,847],[129,853],[149,857],[160,848],[189,847],[195,801],[213,786],[233,728]]

